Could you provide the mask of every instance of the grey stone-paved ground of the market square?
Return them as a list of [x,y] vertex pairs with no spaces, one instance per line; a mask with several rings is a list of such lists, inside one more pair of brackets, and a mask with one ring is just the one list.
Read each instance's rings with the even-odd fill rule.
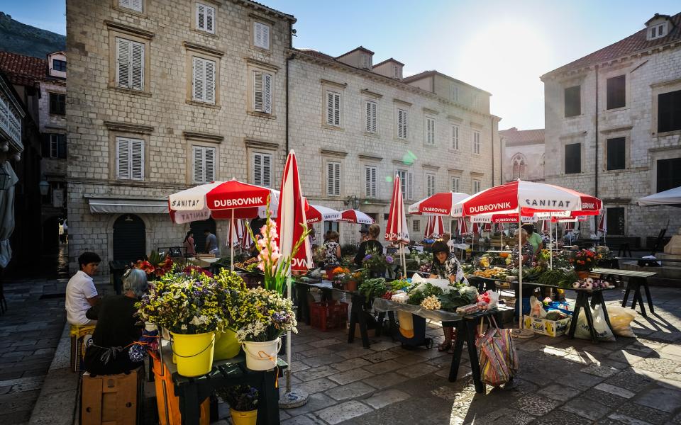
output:
[[[6,285],[10,310],[0,317],[0,424],[28,421],[41,387],[43,395],[52,389],[75,394],[75,375],[63,368],[50,370],[43,382],[65,314],[62,297],[40,296],[63,293],[65,284]],[[451,355],[436,348],[406,349],[383,336],[372,338],[367,350],[358,340],[348,344],[345,331],[301,325],[293,339],[293,382],[311,396],[302,407],[282,410],[282,424],[681,424],[681,291],[651,290],[656,314],[636,319],[638,339],[516,340],[519,375],[505,388],[488,388],[487,395],[475,393],[465,352],[460,378],[451,383]],[[609,297],[616,303],[621,291]],[[430,326],[428,334],[441,339],[438,325]],[[41,396],[33,418],[57,401]],[[74,406],[74,400],[62,399],[67,401]],[[219,422],[229,423],[224,404],[219,411]]]

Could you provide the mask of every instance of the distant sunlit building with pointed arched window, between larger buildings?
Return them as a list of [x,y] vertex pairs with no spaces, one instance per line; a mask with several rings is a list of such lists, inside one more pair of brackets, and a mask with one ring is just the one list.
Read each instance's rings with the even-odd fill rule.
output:
[[544,129],[499,131],[504,183],[544,180]]

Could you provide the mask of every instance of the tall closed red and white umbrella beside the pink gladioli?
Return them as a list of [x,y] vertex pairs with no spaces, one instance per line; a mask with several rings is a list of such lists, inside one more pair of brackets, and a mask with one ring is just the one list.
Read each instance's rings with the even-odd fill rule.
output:
[[[291,149],[284,166],[281,199],[279,200],[279,211],[277,214],[279,254],[281,254],[281,258],[291,256],[291,265],[287,271],[288,278],[286,284],[289,301],[291,300],[291,272],[307,271],[312,266],[312,253],[307,237],[303,238],[298,251],[294,252],[297,242],[301,239],[306,229],[306,208],[306,200],[300,188],[296,154]],[[303,391],[294,392],[291,390],[291,331],[287,332],[286,356],[287,363],[289,364],[289,368],[286,370],[286,393],[280,397],[279,404],[283,407],[297,407],[304,404],[309,395]]]

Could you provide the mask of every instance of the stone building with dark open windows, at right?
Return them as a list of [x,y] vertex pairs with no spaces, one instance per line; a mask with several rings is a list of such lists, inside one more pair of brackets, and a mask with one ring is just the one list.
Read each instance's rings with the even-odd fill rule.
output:
[[546,181],[602,198],[609,237],[646,244],[668,225],[677,229],[677,209],[636,200],[681,186],[681,13],[655,14],[541,80]]

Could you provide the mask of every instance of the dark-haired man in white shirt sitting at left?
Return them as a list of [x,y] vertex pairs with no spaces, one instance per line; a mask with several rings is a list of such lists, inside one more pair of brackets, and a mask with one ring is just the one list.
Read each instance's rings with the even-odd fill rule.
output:
[[94,324],[85,312],[99,302],[92,276],[96,275],[101,259],[94,252],[84,252],[78,257],[80,270],[66,285],[66,319],[70,324]]

